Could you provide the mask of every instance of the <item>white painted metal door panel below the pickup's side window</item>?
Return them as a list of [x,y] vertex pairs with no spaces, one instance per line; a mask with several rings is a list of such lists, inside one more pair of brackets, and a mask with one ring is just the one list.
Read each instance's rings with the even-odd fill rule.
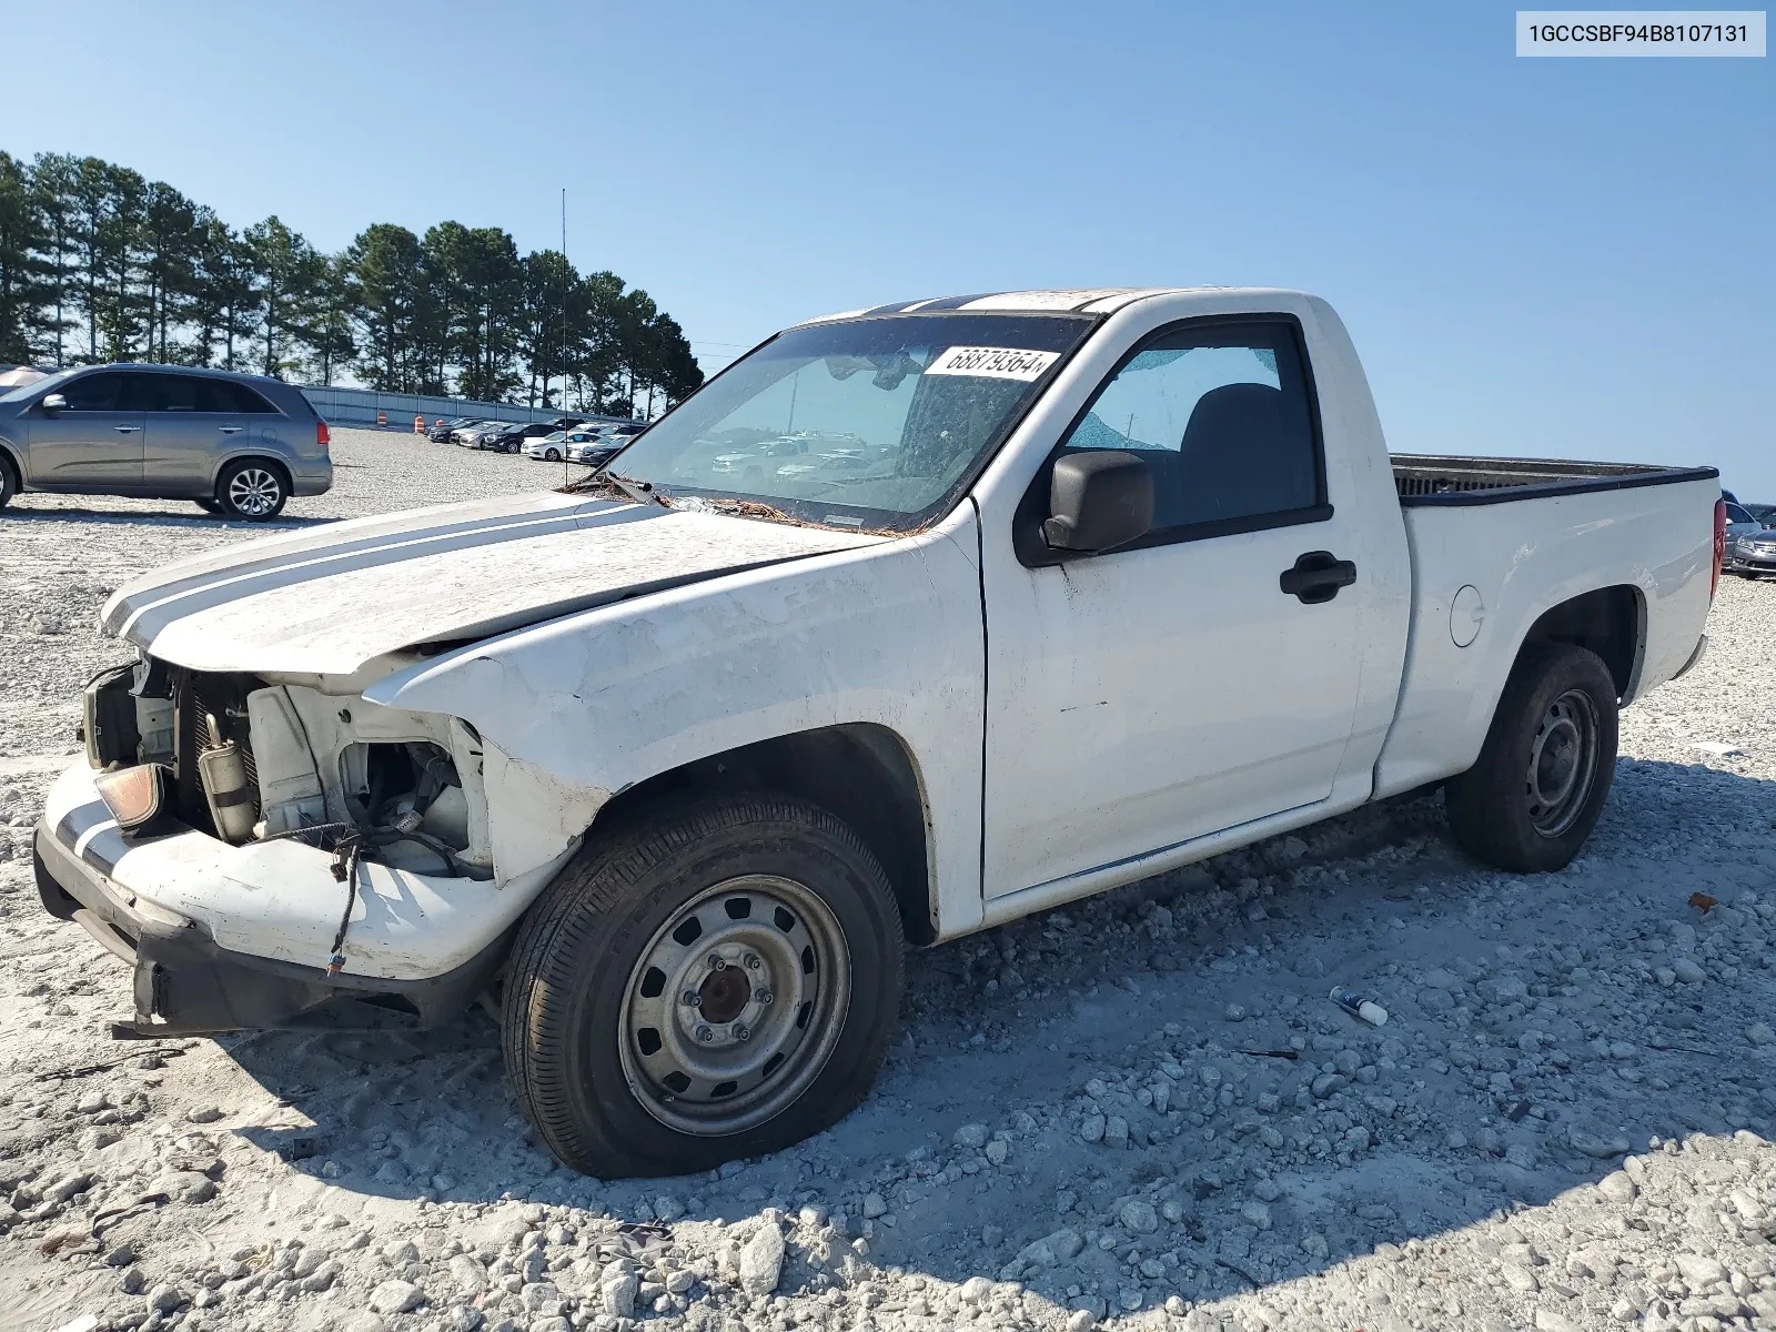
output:
[[[1032,568],[989,604],[989,895],[1330,794],[1357,700],[1359,597],[1307,606],[1277,577],[1307,551],[1348,551],[1341,527]],[[1034,643],[993,632],[1002,607],[1035,625]]]

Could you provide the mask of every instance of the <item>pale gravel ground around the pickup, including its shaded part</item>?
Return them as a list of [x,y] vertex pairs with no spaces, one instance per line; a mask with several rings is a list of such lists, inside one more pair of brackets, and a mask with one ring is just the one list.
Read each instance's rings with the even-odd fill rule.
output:
[[[558,476],[336,440],[291,522]],[[119,657],[105,593],[252,531],[0,519],[0,1328],[1776,1327],[1776,588],[1724,581],[1709,657],[1625,714],[1566,872],[1463,861],[1437,797],[1364,810],[916,954],[845,1122],[599,1183],[481,1014],[103,1035],[128,975],[41,913],[28,826]]]

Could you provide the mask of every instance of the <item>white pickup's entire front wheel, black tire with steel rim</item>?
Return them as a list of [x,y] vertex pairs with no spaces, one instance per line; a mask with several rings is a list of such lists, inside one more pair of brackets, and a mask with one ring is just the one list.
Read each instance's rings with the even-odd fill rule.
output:
[[[801,918],[773,900],[790,888],[805,893],[787,899],[806,904]],[[757,918],[755,902],[762,908]],[[702,932],[705,916],[698,913],[714,916],[709,932]],[[696,931],[689,929],[693,916]],[[821,938],[829,941],[831,924],[836,947],[796,950],[792,929],[824,927]],[[741,929],[751,934],[728,932]],[[789,957],[799,959],[799,968],[783,968],[781,952],[771,954],[776,963],[749,952],[767,952],[773,929],[789,940]],[[726,991],[712,991],[723,970],[718,952],[733,952],[733,940],[746,940],[739,945],[742,963],[726,968]],[[655,806],[652,817],[630,817],[591,836],[519,929],[501,1005],[519,1108],[563,1163],[600,1179],[689,1174],[780,1151],[831,1126],[868,1092],[900,1007],[902,947],[900,915],[881,865],[826,810],[771,794]],[[698,957],[705,948],[707,963]],[[652,964],[673,966],[666,950],[680,950],[693,968],[677,975],[703,975],[700,989],[689,982],[678,987]],[[829,961],[815,964],[810,955]],[[741,986],[744,1000],[732,991],[739,984],[733,975],[748,982]],[[774,998],[758,977],[783,989],[787,1002],[762,1007]],[[691,1007],[693,995],[700,1007]],[[664,1016],[648,1016],[654,1012]],[[758,1046],[741,1044],[749,1039],[735,1021],[742,1014],[758,1021]],[[664,1051],[655,1028],[638,1027],[643,1021],[668,1028]],[[719,1037],[709,1034],[710,1023],[721,1028]],[[712,1039],[726,1048],[694,1044]],[[693,1064],[686,1067],[730,1053],[776,1053],[758,1082],[739,1092],[732,1082],[710,1083],[702,1094],[677,1071],[675,1050],[687,1051]],[[671,1071],[655,1082],[662,1067]],[[733,1099],[716,1099],[721,1096]],[[668,1122],[696,1115],[707,1119],[689,1128]]]

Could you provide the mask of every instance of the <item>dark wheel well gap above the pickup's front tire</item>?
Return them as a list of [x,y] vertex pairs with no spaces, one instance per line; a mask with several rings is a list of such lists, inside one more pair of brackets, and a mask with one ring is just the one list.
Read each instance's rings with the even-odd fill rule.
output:
[[797,796],[844,819],[893,884],[908,941],[936,938],[925,799],[906,746],[886,726],[822,726],[698,758],[636,783],[611,799],[599,819],[664,796],[767,790]]

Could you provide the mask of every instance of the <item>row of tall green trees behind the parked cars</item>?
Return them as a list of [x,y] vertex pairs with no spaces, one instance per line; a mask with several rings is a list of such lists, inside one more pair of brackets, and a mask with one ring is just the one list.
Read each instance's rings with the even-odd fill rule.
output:
[[108,361],[620,416],[703,382],[646,291],[499,227],[378,222],[325,254],[99,158],[0,153],[0,362]]

